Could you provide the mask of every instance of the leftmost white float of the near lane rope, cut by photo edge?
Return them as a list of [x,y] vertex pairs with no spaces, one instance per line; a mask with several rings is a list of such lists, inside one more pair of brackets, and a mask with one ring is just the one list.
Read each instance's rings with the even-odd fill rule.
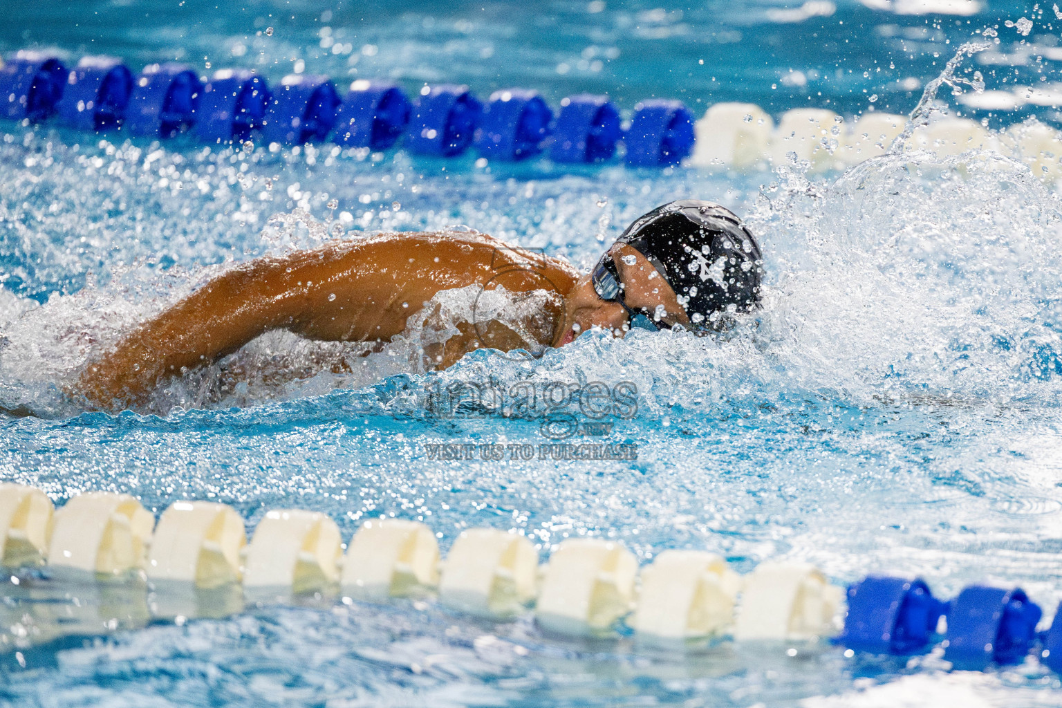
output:
[[0,484],[0,566],[44,563],[51,535],[52,500],[36,487]]

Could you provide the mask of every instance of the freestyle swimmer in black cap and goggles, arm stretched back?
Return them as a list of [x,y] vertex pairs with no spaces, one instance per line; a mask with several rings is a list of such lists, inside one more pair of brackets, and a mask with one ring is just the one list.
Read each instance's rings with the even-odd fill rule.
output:
[[706,333],[757,306],[761,273],[759,246],[740,220],[695,200],[636,220],[585,275],[484,235],[382,234],[234,267],[90,362],[79,390],[96,408],[136,405],[169,378],[276,329],[378,350],[436,293],[467,286],[545,290],[553,305],[538,313],[546,326],[536,342],[500,321],[458,323],[458,333],[425,352],[435,368],[483,347],[562,347],[595,328]]

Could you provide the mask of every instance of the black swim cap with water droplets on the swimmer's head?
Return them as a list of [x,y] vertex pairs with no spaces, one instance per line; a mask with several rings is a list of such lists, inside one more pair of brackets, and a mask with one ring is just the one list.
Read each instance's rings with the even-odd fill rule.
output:
[[721,329],[729,313],[759,304],[759,245],[725,207],[671,202],[635,220],[616,242],[636,248],[664,276],[695,330]]

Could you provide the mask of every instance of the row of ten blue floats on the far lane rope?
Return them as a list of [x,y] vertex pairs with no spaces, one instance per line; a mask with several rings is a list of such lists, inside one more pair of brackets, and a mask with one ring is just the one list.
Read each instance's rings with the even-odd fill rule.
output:
[[203,85],[184,64],[153,64],[134,77],[113,57],[86,56],[68,72],[48,52],[16,52],[0,67],[0,117],[36,122],[55,113],[84,131],[125,127],[170,138],[194,128],[212,143],[260,134],[271,143],[298,144],[325,140],[338,127],[337,144],[381,151],[405,134],[413,153],[452,157],[475,142],[481,155],[500,160],[548,148],[556,162],[597,162],[610,159],[622,139],[629,165],[660,167],[681,162],[695,139],[692,115],[680,101],[637,104],[623,134],[605,96],[568,97],[554,121],[546,101],[523,88],[495,91],[484,110],[467,86],[453,84],[425,86],[411,104],[392,82],[359,80],[341,100],[326,76],[285,76],[270,91],[245,69],[217,71]]

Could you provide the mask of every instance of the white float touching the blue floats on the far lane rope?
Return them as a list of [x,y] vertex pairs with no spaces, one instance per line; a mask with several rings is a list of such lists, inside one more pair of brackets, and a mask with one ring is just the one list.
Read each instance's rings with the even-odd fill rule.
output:
[[767,162],[774,121],[755,103],[717,103],[693,124],[693,132],[690,165],[748,170]]

